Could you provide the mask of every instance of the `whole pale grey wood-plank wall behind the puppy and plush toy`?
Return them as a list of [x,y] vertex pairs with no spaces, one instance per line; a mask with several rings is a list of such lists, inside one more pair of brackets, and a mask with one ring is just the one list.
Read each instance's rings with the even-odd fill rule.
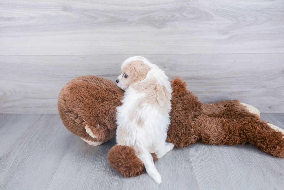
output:
[[284,1],[0,2],[0,113],[57,113],[72,78],[141,55],[202,102],[284,113]]

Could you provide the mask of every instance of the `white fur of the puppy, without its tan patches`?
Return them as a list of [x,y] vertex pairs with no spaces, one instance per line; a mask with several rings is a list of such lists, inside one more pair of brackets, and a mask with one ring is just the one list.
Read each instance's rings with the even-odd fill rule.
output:
[[[146,78],[142,80],[143,83],[142,81],[139,81],[139,83],[147,84],[148,80],[154,80],[155,84],[158,84],[161,88],[166,88],[166,95],[171,98],[172,89],[169,78],[158,66],[151,64],[147,59],[139,56],[130,57],[123,62],[121,68],[137,60],[143,61],[143,64],[150,67]],[[160,184],[161,175],[157,171],[150,153],[156,153],[157,157],[161,158],[174,147],[172,143],[165,142],[170,124],[170,98],[165,98],[165,102],[160,102],[160,106],[147,102],[141,103],[142,99],[151,99],[151,97],[145,97],[147,90],[144,92],[141,89],[132,88],[133,85],[123,84],[123,81],[121,81],[123,75],[124,73],[118,77],[119,82],[117,84],[125,90],[125,94],[122,105],[117,107],[116,112],[116,123],[118,125],[116,142],[118,145],[131,146],[144,163],[147,173],[156,183]],[[144,87],[150,88],[150,86]],[[139,119],[143,120],[142,125],[137,124]]]

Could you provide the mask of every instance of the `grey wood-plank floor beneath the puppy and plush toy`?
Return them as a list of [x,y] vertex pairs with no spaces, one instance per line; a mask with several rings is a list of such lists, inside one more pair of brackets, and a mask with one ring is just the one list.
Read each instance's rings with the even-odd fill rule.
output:
[[[284,114],[262,113],[284,129]],[[105,159],[111,140],[90,146],[58,114],[0,114],[0,189],[283,189],[284,159],[244,146],[194,144],[156,162],[162,183],[147,174],[124,178]]]

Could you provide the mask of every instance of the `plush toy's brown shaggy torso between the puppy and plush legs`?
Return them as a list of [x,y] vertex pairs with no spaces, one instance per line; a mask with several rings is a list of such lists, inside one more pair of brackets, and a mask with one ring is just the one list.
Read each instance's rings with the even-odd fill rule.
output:
[[172,109],[171,124],[168,129],[167,142],[176,148],[189,146],[198,139],[192,128],[193,119],[202,113],[202,104],[197,97],[186,88],[186,82],[177,77],[171,81]]

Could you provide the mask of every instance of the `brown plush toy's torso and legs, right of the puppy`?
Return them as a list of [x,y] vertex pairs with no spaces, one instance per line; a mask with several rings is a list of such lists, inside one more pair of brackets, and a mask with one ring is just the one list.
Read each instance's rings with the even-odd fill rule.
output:
[[173,79],[171,84],[173,98],[167,141],[176,148],[196,142],[212,145],[250,142],[261,151],[284,158],[283,134],[250,113],[238,100],[202,104],[181,78]]

